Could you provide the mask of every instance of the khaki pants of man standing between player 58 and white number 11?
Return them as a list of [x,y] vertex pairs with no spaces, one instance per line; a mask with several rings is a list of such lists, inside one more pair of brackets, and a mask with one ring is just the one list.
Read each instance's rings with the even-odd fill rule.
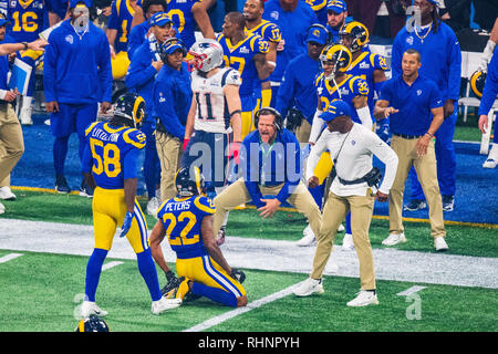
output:
[[175,175],[181,159],[183,142],[177,137],[156,131],[157,156],[160,162],[160,202],[177,194]]

